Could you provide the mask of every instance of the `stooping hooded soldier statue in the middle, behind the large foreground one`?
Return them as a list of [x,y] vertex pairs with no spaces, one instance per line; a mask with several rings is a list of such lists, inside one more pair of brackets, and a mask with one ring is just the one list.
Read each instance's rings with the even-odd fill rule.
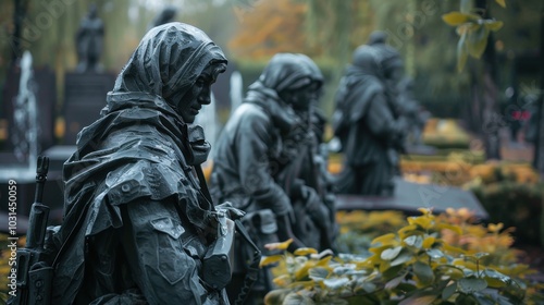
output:
[[[309,196],[316,195],[316,191],[305,181],[296,187],[293,185],[298,178],[298,170],[293,170],[293,167],[298,164],[294,166],[292,161],[302,155],[297,149],[308,148],[312,137],[308,122],[302,122],[295,109],[304,108],[308,112],[322,84],[321,75],[316,75],[309,61],[304,54],[275,54],[259,80],[249,86],[246,98],[218,141],[210,181],[212,197],[231,202],[248,212],[244,221],[249,223],[265,255],[270,253],[263,245],[269,242],[293,239],[289,251],[305,246],[301,237],[293,232],[296,220],[292,196],[299,192],[300,198],[308,204]],[[319,205],[319,198],[313,200],[312,197],[310,204]],[[240,286],[237,283],[246,272],[245,249],[236,249],[238,254],[235,256],[242,259],[237,264],[238,273],[227,286],[230,297],[238,293]],[[262,300],[270,291],[270,276],[268,269],[260,272],[259,284],[252,291],[254,301]]]

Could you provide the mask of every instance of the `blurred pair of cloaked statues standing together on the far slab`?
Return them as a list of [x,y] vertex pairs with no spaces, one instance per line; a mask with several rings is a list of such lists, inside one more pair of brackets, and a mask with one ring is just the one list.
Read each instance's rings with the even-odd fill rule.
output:
[[392,196],[408,136],[421,137],[425,119],[403,77],[400,53],[385,38],[375,32],[354,51],[336,91],[333,129],[344,152],[338,194]]

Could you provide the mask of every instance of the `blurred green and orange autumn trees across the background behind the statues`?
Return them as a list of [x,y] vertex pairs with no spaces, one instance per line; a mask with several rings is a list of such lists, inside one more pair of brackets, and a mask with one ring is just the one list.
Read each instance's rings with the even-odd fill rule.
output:
[[[442,15],[459,11],[461,0],[15,0],[0,3],[0,86],[11,62],[15,36],[15,4],[24,8],[21,47],[29,50],[37,69],[55,71],[58,107],[62,105],[64,72],[76,65],[74,35],[90,3],[96,3],[104,22],[106,70],[119,72],[149,23],[165,5],[177,7],[176,21],[202,28],[238,63],[244,86],[258,77],[275,52],[302,52],[312,57],[327,77],[322,108],[330,114],[332,96],[351,51],[367,42],[376,29],[388,34],[388,44],[405,59],[406,73],[415,78],[416,98],[434,117],[463,119],[474,133],[487,129],[482,105],[473,102],[475,87],[482,87],[479,65],[469,59],[457,72],[454,27]],[[465,1],[465,0],[462,0]],[[484,3],[484,5],[482,5]],[[504,27],[493,33],[486,50],[495,52],[493,77],[497,107],[486,120],[498,126],[509,123],[510,107],[528,109],[523,97],[540,93],[534,71],[539,58],[541,1],[495,0],[474,2],[479,12],[493,12]],[[511,93],[515,91],[512,95]],[[2,101],[3,102],[3,101]],[[496,127],[496,126],[495,126]]]

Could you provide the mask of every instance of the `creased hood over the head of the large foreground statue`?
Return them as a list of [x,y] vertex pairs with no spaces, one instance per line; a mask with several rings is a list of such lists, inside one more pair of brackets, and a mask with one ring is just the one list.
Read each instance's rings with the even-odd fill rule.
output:
[[[190,90],[197,77],[210,63],[226,58],[202,30],[178,22],[151,28],[119,74],[112,94],[145,93],[169,99]],[[182,95],[180,95],[182,93]],[[122,105],[110,102],[104,112]]]

